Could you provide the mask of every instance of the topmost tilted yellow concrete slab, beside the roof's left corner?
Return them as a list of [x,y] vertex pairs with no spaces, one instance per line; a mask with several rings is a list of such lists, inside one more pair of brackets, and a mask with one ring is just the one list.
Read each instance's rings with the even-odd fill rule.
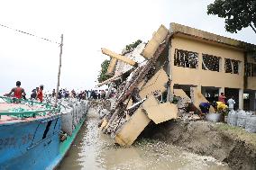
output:
[[153,37],[148,42],[145,49],[142,50],[142,56],[144,58],[151,59],[160,47],[160,43],[167,38],[168,34],[169,30],[164,25],[160,25],[159,30],[153,34]]

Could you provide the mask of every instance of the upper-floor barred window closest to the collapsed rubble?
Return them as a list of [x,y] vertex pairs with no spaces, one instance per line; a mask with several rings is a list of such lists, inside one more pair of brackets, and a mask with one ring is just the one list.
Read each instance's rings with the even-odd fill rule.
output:
[[174,66],[197,68],[198,53],[182,49],[175,49]]

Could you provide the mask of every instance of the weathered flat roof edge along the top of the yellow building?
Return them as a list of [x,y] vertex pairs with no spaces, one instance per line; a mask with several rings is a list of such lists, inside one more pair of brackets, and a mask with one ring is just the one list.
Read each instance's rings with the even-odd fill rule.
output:
[[181,25],[175,22],[171,22],[169,26],[169,31],[172,34],[183,34],[187,36],[192,36],[197,39],[212,41],[219,44],[224,44],[227,46],[232,46],[234,48],[243,49],[245,51],[256,51],[256,45],[243,42],[241,40],[234,40],[224,36],[216,35],[207,31],[197,30],[185,25]]

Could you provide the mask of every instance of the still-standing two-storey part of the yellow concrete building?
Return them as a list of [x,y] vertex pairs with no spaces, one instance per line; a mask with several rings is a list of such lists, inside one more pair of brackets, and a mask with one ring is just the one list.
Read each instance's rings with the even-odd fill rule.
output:
[[189,95],[195,86],[210,102],[224,92],[234,96],[236,109],[255,111],[256,45],[177,23],[169,31],[171,89]]

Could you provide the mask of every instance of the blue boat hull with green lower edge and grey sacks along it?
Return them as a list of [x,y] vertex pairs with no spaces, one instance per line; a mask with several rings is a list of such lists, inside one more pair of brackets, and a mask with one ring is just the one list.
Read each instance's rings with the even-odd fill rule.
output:
[[[0,170],[44,170],[58,166],[86,119],[88,103],[64,111],[25,119],[0,119]],[[65,117],[68,113],[71,123]],[[63,133],[69,135],[60,141]]]

